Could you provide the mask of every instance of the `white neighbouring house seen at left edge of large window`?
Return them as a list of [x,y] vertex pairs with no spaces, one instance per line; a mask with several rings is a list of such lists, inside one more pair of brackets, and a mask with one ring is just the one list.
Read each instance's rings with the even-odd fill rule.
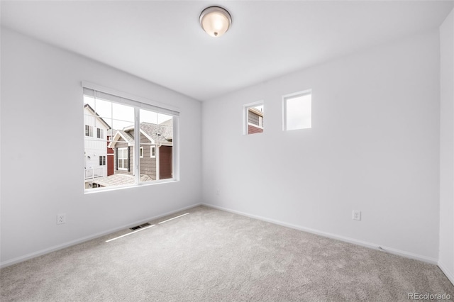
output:
[[84,104],[84,121],[84,183],[85,189],[89,189],[93,187],[94,179],[108,175],[106,135],[111,127],[89,104]]

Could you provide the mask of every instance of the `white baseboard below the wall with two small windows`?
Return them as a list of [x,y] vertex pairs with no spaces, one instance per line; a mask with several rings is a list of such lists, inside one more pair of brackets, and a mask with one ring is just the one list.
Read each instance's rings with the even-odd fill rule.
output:
[[316,234],[316,235],[321,235],[323,237],[328,237],[328,238],[332,238],[332,239],[336,239],[336,240],[341,240],[341,241],[344,241],[344,242],[353,243],[354,245],[361,245],[363,247],[369,247],[369,248],[371,248],[373,250],[378,250],[378,247],[382,247],[382,250],[384,252],[389,252],[390,254],[399,255],[399,256],[406,257],[406,258],[411,258],[411,259],[416,259],[416,260],[419,260],[419,261],[422,261],[422,262],[427,262],[427,263],[430,263],[430,264],[436,264],[436,265],[438,264],[438,259],[434,259],[434,258],[431,258],[431,257],[422,256],[422,255],[417,255],[417,254],[414,254],[414,253],[411,253],[411,252],[406,252],[406,251],[403,251],[403,250],[397,250],[397,249],[394,249],[392,247],[386,247],[384,245],[379,245],[379,244],[376,244],[376,243],[365,242],[365,241],[357,240],[357,239],[350,238],[350,237],[345,237],[345,236],[336,235],[336,234],[332,234],[332,233],[326,233],[326,232],[323,232],[323,231],[320,231],[320,230],[314,230],[314,229],[311,229],[311,228],[305,228],[304,226],[301,226],[301,225],[294,225],[292,223],[284,223],[284,222],[279,221],[279,220],[274,220],[274,219],[265,218],[265,217],[262,217],[262,216],[252,215],[252,214],[248,214],[248,213],[232,210],[230,208],[223,208],[221,206],[214,206],[214,205],[211,205],[209,203],[202,203],[202,206],[207,206],[209,208],[216,208],[216,209],[221,210],[221,211],[235,213],[235,214],[239,214],[241,216],[255,218],[255,219],[258,219],[258,220],[263,220],[263,221],[266,221],[268,223],[275,223],[277,225],[282,225],[282,226],[287,227],[287,228],[293,228],[295,230],[303,230],[304,232],[308,232],[308,233],[312,233],[312,234]]

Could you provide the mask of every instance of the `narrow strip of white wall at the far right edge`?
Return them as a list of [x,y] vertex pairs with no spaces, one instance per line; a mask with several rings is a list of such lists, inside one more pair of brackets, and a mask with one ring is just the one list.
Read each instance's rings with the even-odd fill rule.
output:
[[454,284],[454,11],[440,27],[440,254]]

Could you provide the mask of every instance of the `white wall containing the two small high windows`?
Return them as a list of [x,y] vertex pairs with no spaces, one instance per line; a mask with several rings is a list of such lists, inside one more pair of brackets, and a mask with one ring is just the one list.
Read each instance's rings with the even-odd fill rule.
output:
[[[204,102],[204,203],[436,263],[439,70],[433,30]],[[312,128],[282,131],[305,89]],[[242,135],[260,100],[265,132]]]

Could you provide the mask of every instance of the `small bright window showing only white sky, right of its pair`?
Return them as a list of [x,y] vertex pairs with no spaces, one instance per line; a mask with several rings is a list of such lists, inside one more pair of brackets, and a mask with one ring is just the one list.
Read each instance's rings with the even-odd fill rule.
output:
[[312,127],[311,99],[310,90],[282,97],[283,130]]

